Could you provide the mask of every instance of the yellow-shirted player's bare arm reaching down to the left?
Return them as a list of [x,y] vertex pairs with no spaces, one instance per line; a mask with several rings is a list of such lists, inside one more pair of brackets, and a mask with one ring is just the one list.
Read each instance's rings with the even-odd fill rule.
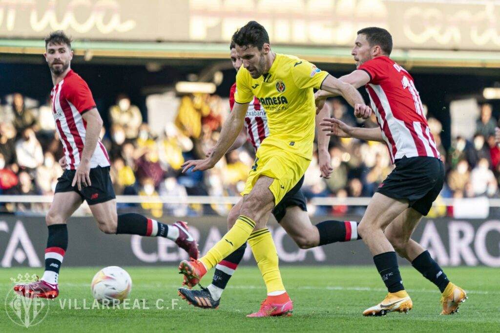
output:
[[191,160],[187,161],[181,166],[183,167],[182,173],[192,168],[192,171],[203,171],[213,168],[213,166],[220,160],[222,156],[226,153],[227,149],[232,145],[236,137],[243,127],[243,119],[246,114],[246,109],[248,108],[248,103],[239,104],[235,103],[232,108],[229,117],[222,125],[220,130],[219,139],[213,147],[213,151],[205,160]]

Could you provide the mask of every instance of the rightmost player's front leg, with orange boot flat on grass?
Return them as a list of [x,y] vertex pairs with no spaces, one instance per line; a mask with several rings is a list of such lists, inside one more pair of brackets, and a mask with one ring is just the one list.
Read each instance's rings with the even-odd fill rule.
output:
[[384,235],[385,228],[399,216],[408,203],[375,193],[359,224],[359,233],[373,255],[373,262],[387,287],[385,299],[363,312],[364,316],[380,316],[389,312],[408,312],[411,299],[404,290],[394,248]]

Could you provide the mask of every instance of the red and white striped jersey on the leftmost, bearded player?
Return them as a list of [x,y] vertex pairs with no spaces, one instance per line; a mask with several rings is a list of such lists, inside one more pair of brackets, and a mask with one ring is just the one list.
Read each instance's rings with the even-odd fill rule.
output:
[[[95,107],[92,93],[86,82],[73,70],[56,84],[50,92],[52,113],[57,134],[64,148],[66,169],[75,170],[80,164],[85,144],[86,122],[83,113]],[[90,159],[90,168],[109,166],[106,148],[100,140]]]

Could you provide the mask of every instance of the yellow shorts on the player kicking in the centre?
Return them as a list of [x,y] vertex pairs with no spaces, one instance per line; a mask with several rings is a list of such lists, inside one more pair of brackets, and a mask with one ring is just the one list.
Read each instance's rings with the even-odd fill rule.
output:
[[260,176],[273,178],[269,190],[274,196],[274,205],[283,199],[286,192],[302,178],[310,159],[293,154],[274,146],[262,145],[257,150],[255,162],[248,172],[248,178],[241,195],[250,193]]

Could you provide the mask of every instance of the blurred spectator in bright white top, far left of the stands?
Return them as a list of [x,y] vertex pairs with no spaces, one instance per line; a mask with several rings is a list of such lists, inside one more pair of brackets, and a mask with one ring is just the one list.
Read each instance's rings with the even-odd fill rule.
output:
[[15,143],[19,167],[32,173],[43,163],[43,151],[31,128],[25,128]]

